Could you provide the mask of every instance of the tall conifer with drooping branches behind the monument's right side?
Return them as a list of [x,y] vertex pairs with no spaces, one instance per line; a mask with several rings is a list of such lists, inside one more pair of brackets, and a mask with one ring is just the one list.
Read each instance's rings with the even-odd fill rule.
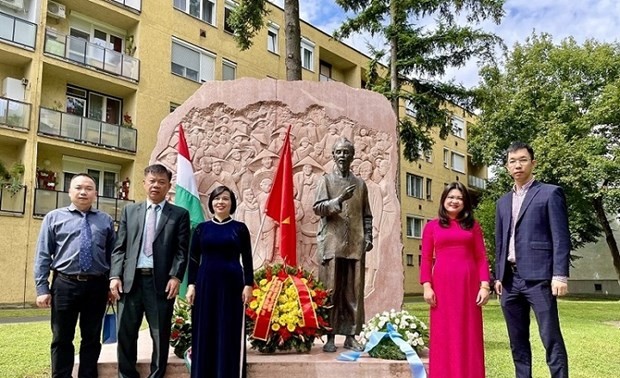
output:
[[[380,35],[389,51],[373,49],[367,87],[383,93],[398,117],[400,100],[415,111],[415,122],[399,120],[403,154],[416,160],[430,150],[430,130],[439,128],[445,138],[452,129],[446,103],[471,108],[472,92],[452,81],[437,78],[451,67],[462,67],[471,58],[492,59],[500,39],[474,28],[483,20],[499,22],[504,0],[336,0],[353,14],[337,30],[337,38],[354,33]],[[428,20],[433,24],[425,24]],[[379,74],[379,65],[388,57],[389,73]],[[412,90],[404,91],[403,88]]]

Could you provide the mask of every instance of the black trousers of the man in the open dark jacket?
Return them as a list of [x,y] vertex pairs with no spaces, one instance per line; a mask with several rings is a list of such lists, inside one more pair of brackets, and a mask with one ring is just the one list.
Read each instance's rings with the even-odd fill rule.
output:
[[153,340],[149,378],[164,377],[168,365],[173,310],[174,299],[168,300],[156,293],[153,276],[136,272],[131,291],[121,295],[118,306],[119,377],[140,377],[136,370],[138,335],[145,315]]

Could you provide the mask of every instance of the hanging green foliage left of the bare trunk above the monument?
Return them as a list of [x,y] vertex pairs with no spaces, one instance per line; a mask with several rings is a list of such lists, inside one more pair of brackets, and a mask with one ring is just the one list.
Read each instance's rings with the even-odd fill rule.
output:
[[268,14],[267,0],[239,1],[230,16],[229,25],[235,31],[235,42],[242,51],[252,46],[252,39],[265,26],[264,17]]

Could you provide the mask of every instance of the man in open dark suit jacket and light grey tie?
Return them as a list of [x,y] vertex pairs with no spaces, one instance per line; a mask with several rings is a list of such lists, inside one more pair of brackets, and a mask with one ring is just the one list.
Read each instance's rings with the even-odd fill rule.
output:
[[146,314],[153,354],[151,378],[164,377],[168,363],[174,299],[187,266],[187,210],[167,203],[172,174],[161,164],[144,170],[145,202],[123,209],[112,253],[110,290],[119,300],[118,373],[139,378],[138,333]]

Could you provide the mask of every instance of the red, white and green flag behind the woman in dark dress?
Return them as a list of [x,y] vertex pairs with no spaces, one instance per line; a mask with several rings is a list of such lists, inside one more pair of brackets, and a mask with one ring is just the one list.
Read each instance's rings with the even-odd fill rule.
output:
[[[194,168],[189,158],[189,148],[185,140],[183,126],[179,124],[179,145],[177,156],[177,185],[175,188],[174,203],[189,211],[189,219],[192,231],[200,222],[204,222],[205,217],[198,196],[198,186],[194,177]],[[181,284],[179,295],[184,297],[187,290],[187,272]]]

